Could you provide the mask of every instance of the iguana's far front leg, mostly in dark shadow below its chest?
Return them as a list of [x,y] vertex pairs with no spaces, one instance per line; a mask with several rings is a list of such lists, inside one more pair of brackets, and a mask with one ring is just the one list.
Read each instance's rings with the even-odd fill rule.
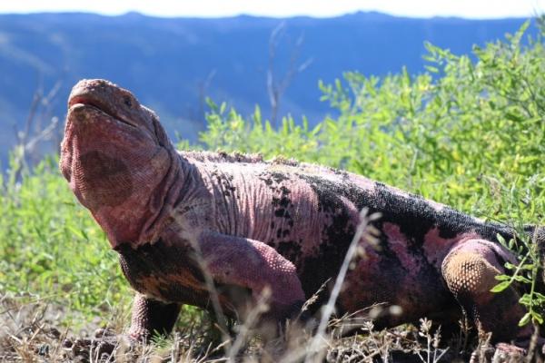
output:
[[129,336],[139,341],[145,341],[154,333],[170,334],[180,308],[180,304],[166,304],[136,293]]

